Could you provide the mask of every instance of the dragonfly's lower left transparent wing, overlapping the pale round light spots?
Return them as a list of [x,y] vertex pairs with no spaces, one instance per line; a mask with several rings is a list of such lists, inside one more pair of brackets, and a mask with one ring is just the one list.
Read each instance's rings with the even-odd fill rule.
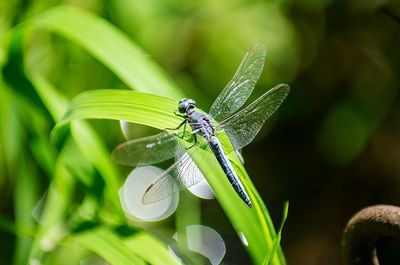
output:
[[143,204],[161,201],[203,180],[203,174],[192,158],[182,151],[183,148],[180,149],[182,153],[180,158],[147,188],[143,195]]

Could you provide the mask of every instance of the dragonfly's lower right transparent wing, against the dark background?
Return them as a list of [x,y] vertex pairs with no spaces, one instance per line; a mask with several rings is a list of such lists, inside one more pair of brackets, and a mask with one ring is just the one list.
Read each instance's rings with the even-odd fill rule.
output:
[[289,90],[288,85],[277,85],[249,106],[220,123],[236,150],[242,149],[253,141],[265,121],[279,108]]

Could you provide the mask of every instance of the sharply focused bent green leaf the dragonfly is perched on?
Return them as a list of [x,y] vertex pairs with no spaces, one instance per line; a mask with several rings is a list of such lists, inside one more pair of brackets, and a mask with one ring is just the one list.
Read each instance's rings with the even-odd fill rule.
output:
[[[74,99],[68,107],[61,123],[79,118],[104,118],[128,120],[158,129],[175,127],[180,119],[173,115],[173,102],[163,97],[125,90],[88,91]],[[174,123],[174,120],[176,121]],[[56,128],[59,125],[56,126]],[[56,129],[57,130],[57,129]],[[236,157],[226,135],[219,136],[236,172],[244,180],[254,203],[249,208],[235,193],[218,165],[214,155],[195,146],[189,150],[200,170],[212,186],[217,199],[224,208],[238,233],[243,233],[248,241],[248,251],[256,264],[260,264],[273,251],[275,231],[265,205],[251,184],[243,165]],[[224,139],[224,137],[226,139]],[[185,144],[185,143],[183,143]],[[187,143],[188,144],[188,143]],[[285,264],[281,250],[273,258],[273,264]]]

